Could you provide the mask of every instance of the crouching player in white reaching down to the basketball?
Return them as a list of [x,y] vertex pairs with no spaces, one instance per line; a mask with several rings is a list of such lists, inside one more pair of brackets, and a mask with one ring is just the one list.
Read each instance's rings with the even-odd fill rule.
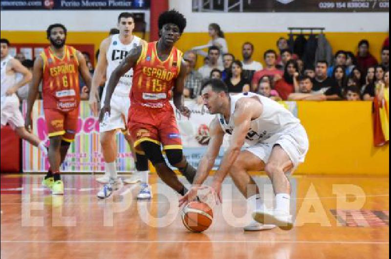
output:
[[[204,105],[217,114],[210,126],[211,139],[202,157],[193,187],[180,199],[180,204],[195,198],[197,190],[212,169],[225,133],[231,134],[230,146],[214,175],[212,192],[221,200],[221,183],[230,173],[239,191],[256,205],[252,216],[256,221],[245,230],[263,230],[293,226],[289,213],[290,183],[286,174],[304,162],[308,150],[307,134],[300,120],[275,101],[255,93],[228,94],[220,80],[209,80],[202,86]],[[244,143],[248,147],[243,148]],[[266,171],[276,194],[276,208],[268,210],[249,171]],[[265,225],[266,223],[268,225]]]

